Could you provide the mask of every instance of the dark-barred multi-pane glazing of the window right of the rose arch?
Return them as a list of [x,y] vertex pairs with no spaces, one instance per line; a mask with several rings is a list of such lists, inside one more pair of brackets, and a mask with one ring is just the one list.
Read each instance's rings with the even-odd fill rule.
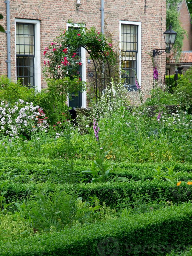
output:
[[128,88],[135,88],[135,74],[137,73],[138,26],[121,24],[121,68],[122,78]]

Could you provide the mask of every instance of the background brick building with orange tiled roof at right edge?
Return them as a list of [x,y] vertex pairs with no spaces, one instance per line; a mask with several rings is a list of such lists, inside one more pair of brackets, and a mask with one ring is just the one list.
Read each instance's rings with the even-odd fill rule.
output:
[[179,74],[184,73],[192,65],[192,24],[191,16],[186,0],[182,0],[177,6],[179,12],[179,20],[182,27],[187,32],[183,39],[183,47],[181,56],[177,59],[173,54],[168,54],[166,60],[167,74],[174,74],[178,70]]

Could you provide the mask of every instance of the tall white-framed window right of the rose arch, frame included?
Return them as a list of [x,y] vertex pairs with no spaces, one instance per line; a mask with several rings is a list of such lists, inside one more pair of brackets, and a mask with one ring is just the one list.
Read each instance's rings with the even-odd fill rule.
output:
[[141,85],[141,22],[120,20],[119,31],[121,78],[127,89],[137,90],[134,71]]

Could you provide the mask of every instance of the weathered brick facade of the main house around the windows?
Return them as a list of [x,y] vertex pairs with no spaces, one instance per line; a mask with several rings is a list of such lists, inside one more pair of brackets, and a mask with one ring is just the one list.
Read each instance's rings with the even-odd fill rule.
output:
[[[73,19],[75,23],[84,22],[86,27],[95,26],[101,30],[100,0],[81,0],[82,5],[76,10],[76,0],[11,0],[11,76],[15,79],[15,18],[40,20],[41,62],[43,68],[43,51],[66,28],[66,22]],[[164,49],[163,32],[166,29],[166,0],[146,2],[144,0],[111,0],[104,3],[105,30],[112,34],[113,44],[119,42],[119,20],[142,22],[142,88],[147,95],[152,88],[152,64],[146,52],[153,49]],[[0,13],[4,19],[1,24],[6,29],[6,4],[0,2]],[[7,39],[6,34],[0,35],[0,75],[7,74]],[[165,73],[165,54],[155,58],[160,78]],[[46,84],[42,75],[42,86]]]

